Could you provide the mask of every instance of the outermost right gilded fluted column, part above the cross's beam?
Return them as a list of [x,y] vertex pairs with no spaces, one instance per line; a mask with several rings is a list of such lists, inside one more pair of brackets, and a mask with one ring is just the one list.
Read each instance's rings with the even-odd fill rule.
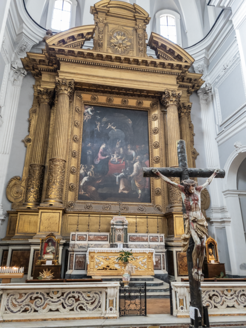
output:
[[185,140],[186,145],[186,153],[187,153],[187,160],[188,160],[188,166],[193,167],[192,165],[192,147],[191,147],[191,138],[190,138],[190,127],[189,127],[189,115],[191,112],[191,102],[188,103],[181,103],[177,110],[178,110],[178,116],[180,117],[180,134],[181,139]]

